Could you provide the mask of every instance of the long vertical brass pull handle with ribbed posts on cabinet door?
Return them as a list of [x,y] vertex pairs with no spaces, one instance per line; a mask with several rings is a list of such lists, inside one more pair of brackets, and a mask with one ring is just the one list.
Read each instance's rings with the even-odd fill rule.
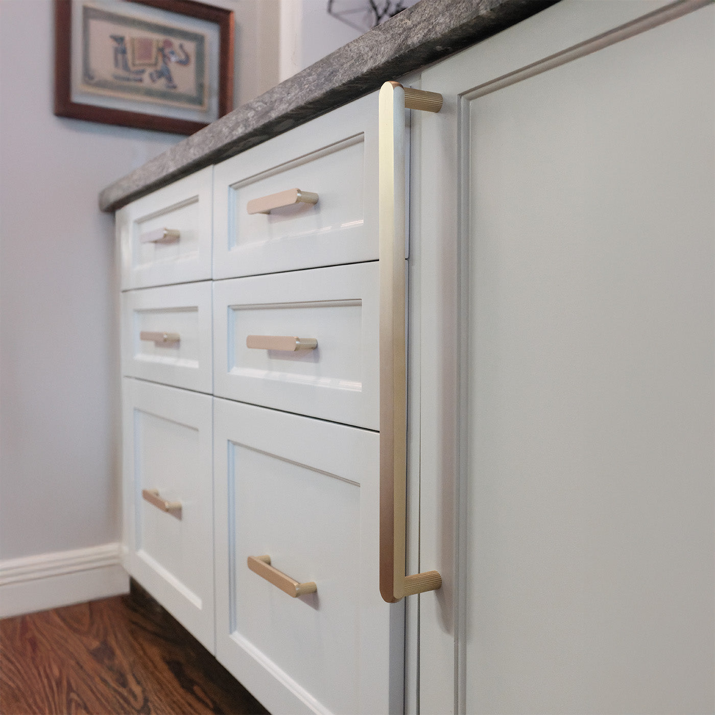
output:
[[442,95],[380,88],[380,594],[388,603],[442,586],[438,571],[405,575],[407,526],[407,341],[405,108],[439,112]]

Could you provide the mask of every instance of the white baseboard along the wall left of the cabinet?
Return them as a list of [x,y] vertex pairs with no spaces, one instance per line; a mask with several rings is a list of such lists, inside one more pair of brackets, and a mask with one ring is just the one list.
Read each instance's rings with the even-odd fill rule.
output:
[[0,618],[128,591],[119,543],[0,561]]

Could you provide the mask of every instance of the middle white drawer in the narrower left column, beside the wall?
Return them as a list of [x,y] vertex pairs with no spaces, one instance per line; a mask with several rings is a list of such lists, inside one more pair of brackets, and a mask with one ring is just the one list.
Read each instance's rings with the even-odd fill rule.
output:
[[210,393],[211,281],[122,295],[122,372]]

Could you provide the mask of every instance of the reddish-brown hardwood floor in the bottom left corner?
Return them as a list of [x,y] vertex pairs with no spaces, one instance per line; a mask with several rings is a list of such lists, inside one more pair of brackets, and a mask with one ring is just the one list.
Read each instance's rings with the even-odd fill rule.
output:
[[129,596],[0,621],[2,715],[264,715],[137,583]]

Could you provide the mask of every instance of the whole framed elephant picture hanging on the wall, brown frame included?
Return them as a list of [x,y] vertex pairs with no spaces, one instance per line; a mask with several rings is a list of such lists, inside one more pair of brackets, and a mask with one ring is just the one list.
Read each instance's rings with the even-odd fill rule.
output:
[[233,26],[194,0],[55,0],[54,113],[193,134],[233,109]]

